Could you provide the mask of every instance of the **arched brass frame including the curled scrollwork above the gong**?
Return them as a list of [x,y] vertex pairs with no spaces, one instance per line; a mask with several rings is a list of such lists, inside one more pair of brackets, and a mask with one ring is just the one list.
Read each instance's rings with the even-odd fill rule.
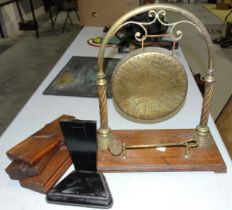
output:
[[[138,14],[141,13],[145,13],[148,12],[149,17],[153,17],[154,19],[150,22],[136,22],[136,21],[130,21],[130,19],[133,16],[136,16]],[[180,20],[180,21],[176,21],[176,22],[172,22],[169,18],[167,18],[167,12],[174,12],[177,13],[183,17],[185,17],[185,19]],[[164,19],[168,19],[168,23],[164,23],[162,20],[164,17]],[[99,49],[99,54],[98,54],[98,72],[97,72],[97,84],[98,86],[104,86],[106,87],[105,82],[103,82],[103,80],[105,79],[105,72],[104,72],[104,54],[105,54],[105,50],[106,50],[106,46],[110,40],[110,38],[112,36],[114,36],[117,31],[119,31],[123,26],[127,25],[127,24],[136,24],[137,26],[139,26],[141,29],[144,30],[144,36],[141,37],[140,32],[137,32],[134,34],[136,40],[138,41],[142,41],[145,40],[148,32],[146,30],[147,25],[153,24],[155,21],[159,21],[162,25],[166,25],[169,27],[169,32],[170,32],[170,36],[172,37],[172,39],[174,41],[178,41],[182,38],[182,31],[177,29],[177,26],[179,26],[182,23],[187,23],[192,25],[193,27],[195,27],[197,29],[198,32],[200,32],[200,35],[203,37],[203,40],[205,41],[206,44],[206,48],[207,48],[207,53],[208,53],[208,70],[207,70],[207,75],[206,75],[206,80],[208,82],[208,87],[205,87],[206,89],[206,94],[204,95],[203,98],[203,104],[202,104],[202,111],[201,111],[201,119],[200,119],[200,123],[199,126],[202,128],[206,128],[207,127],[207,123],[208,123],[208,117],[209,117],[209,107],[212,101],[212,90],[213,90],[213,86],[214,86],[214,57],[213,57],[213,50],[212,50],[212,41],[211,41],[211,37],[206,29],[206,27],[204,26],[204,24],[195,16],[193,15],[191,12],[182,9],[180,7],[177,6],[173,6],[170,4],[150,4],[150,5],[145,5],[139,8],[136,8],[134,10],[131,10],[130,12],[126,13],[125,15],[123,15],[121,18],[119,18],[109,29],[109,31],[107,32],[106,36],[103,39],[102,45]],[[175,30],[177,29],[177,30]],[[200,44],[200,43],[199,43]],[[101,91],[99,90],[99,97],[101,97]],[[108,127],[108,115],[107,115],[107,101],[106,101],[106,97],[104,97],[104,101],[103,100],[99,100],[99,106],[101,110],[104,110],[100,112],[100,119],[101,119],[101,124],[105,124],[107,125],[106,127]],[[104,121],[104,122],[103,122]],[[104,129],[105,126],[100,125],[100,127],[102,129]],[[109,140],[111,139],[111,135],[109,133]],[[107,137],[106,137],[107,138]]]

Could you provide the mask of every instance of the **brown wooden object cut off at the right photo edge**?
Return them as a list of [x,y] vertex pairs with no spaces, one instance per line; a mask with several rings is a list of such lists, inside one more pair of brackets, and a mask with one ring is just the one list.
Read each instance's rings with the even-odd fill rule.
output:
[[232,95],[215,123],[232,159]]

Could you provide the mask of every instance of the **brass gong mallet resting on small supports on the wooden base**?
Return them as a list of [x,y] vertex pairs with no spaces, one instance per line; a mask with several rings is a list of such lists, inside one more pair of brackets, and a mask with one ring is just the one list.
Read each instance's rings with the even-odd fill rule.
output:
[[188,139],[181,142],[169,142],[169,143],[158,143],[158,144],[137,144],[137,145],[126,145],[119,140],[113,140],[109,145],[109,151],[112,155],[118,156],[123,154],[126,158],[126,150],[129,149],[149,149],[159,147],[185,147],[185,157],[188,158],[190,155],[190,149],[197,147],[198,141],[195,139]]

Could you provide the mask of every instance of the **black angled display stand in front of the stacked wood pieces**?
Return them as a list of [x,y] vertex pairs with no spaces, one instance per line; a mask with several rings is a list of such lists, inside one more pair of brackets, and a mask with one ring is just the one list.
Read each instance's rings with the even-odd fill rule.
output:
[[75,171],[47,193],[50,203],[110,208],[113,199],[102,173],[97,172],[96,122],[67,120],[60,122]]

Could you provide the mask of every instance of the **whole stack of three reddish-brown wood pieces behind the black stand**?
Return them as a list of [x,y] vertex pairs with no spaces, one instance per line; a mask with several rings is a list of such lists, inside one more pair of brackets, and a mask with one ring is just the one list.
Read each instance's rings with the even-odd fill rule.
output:
[[72,161],[64,145],[59,121],[74,117],[62,115],[7,151],[12,159],[6,172],[23,187],[47,193],[69,168]]

